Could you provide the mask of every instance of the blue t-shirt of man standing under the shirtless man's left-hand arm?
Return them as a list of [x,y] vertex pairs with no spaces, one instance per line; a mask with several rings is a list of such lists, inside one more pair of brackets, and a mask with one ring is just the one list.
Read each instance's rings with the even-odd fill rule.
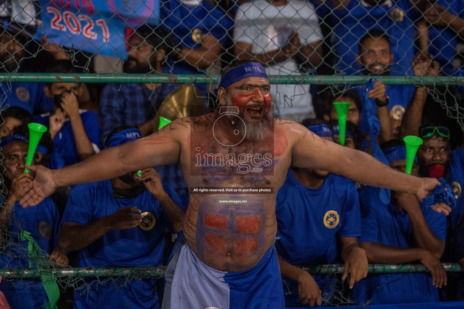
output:
[[[182,207],[179,196],[163,183],[171,199]],[[80,184],[74,187],[64,209],[62,222],[89,224],[122,207],[142,210],[142,223],[138,227],[113,229],[101,238],[79,250],[79,267],[149,266],[162,265],[164,232],[171,228],[167,214],[160,203],[144,190],[130,199],[113,197],[111,181]],[[125,279],[124,279],[125,280]],[[156,280],[116,280],[102,285],[90,282],[90,290],[75,290],[75,308],[155,308],[158,306]],[[121,281],[121,282],[120,282]],[[88,282],[89,283],[89,282]],[[93,286],[92,286],[93,284]],[[119,285],[122,285],[120,287]]]

